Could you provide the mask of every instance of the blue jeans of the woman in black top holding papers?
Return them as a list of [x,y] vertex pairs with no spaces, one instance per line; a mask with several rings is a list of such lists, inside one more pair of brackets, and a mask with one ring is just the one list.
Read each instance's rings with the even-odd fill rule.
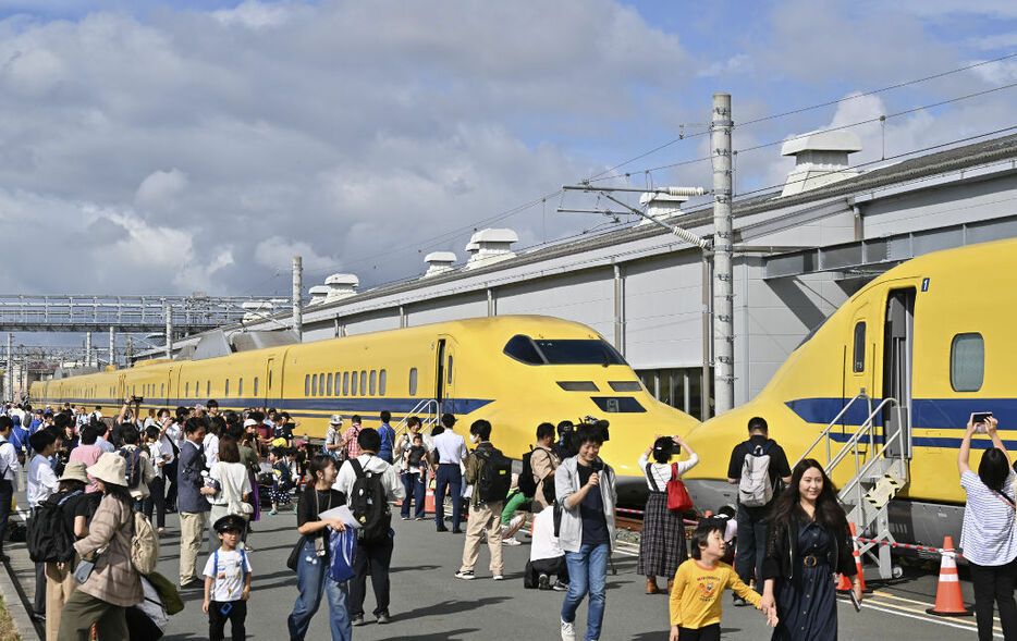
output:
[[322,593],[329,599],[329,628],[332,630],[332,641],[353,639],[346,599],[350,589],[346,582],[336,583],[332,580],[329,576],[329,557],[318,556],[315,553],[314,541],[304,543],[301,560],[296,566],[296,587],[301,593],[296,597],[296,603],[293,604],[293,612],[286,619],[291,641],[304,640],[310,619],[321,605]]

